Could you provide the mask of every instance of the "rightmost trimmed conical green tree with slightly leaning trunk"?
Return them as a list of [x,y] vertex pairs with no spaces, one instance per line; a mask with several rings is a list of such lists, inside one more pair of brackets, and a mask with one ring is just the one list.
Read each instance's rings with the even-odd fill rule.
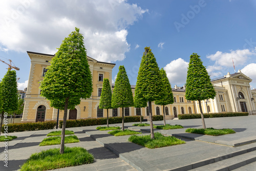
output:
[[216,92],[211,84],[210,76],[208,75],[206,68],[203,66],[200,56],[197,53],[193,53],[190,55],[188,64],[185,97],[187,100],[198,100],[203,129],[206,129],[206,127],[201,100],[209,98],[214,99],[215,96]]

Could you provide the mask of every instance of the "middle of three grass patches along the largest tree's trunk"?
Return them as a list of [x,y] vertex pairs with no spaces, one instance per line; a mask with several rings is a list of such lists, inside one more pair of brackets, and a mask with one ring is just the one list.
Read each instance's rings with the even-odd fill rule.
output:
[[[39,146],[45,146],[45,145],[55,145],[55,144],[60,144],[61,137],[48,137],[42,140],[40,142]],[[79,139],[75,135],[70,135],[65,137],[65,144],[66,143],[74,143],[74,142],[79,142]]]

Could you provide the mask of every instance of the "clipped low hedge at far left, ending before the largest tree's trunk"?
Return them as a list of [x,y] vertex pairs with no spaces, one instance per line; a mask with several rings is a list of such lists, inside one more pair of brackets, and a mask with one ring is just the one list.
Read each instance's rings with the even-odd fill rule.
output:
[[[56,121],[45,122],[26,122],[26,123],[9,123],[8,133],[23,132],[23,131],[36,131],[36,130],[51,130],[56,126]],[[5,131],[5,125],[2,126],[2,133]]]

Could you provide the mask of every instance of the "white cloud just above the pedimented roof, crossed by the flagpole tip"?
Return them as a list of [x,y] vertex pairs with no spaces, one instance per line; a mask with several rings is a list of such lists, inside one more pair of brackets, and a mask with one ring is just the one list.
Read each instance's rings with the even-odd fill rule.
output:
[[231,50],[230,53],[216,52],[215,54],[207,55],[206,57],[210,60],[215,61],[216,66],[232,67],[234,61],[235,66],[243,65],[249,56],[255,54],[254,51],[249,49],[244,50]]

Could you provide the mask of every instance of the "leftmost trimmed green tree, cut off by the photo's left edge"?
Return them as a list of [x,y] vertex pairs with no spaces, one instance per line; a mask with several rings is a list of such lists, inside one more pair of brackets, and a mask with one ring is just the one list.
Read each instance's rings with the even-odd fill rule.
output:
[[[0,130],[2,129],[4,113],[11,114],[17,110],[18,106],[18,89],[16,81],[16,71],[8,70],[1,81],[2,90],[2,116]],[[1,131],[0,131],[1,135]]]

